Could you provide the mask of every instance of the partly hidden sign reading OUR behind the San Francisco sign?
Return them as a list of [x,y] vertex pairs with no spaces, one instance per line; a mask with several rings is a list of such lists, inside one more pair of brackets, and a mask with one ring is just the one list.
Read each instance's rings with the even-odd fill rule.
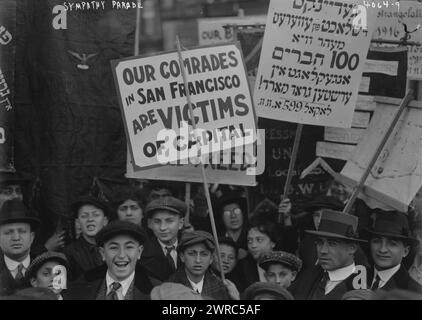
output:
[[259,25],[265,24],[266,20],[266,16],[198,19],[199,45],[212,45],[234,41],[234,30],[233,28],[225,28],[227,25]]

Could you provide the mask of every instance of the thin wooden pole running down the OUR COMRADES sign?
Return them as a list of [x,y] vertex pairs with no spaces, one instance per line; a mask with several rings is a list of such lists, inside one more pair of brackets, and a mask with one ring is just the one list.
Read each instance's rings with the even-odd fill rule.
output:
[[[185,65],[183,64],[183,57],[182,57],[182,49],[181,49],[181,44],[180,44],[180,40],[179,40],[179,36],[176,36],[176,44],[177,44],[177,53],[179,55],[179,65],[180,65],[180,70],[182,72],[182,76],[183,76],[183,82],[185,84],[185,88],[188,88],[188,79],[186,76],[186,70],[185,70]],[[196,123],[194,121],[195,116],[193,114],[193,107],[192,107],[192,101],[190,98],[190,94],[189,94],[189,90],[186,90],[186,99],[188,102],[188,107],[189,107],[189,115],[190,118],[192,119],[192,128],[195,132],[196,135]],[[196,140],[198,140],[198,137],[196,137]],[[221,261],[221,256],[220,256],[220,246],[218,244],[218,236],[217,236],[217,229],[215,227],[215,220],[214,220],[214,212],[212,210],[212,205],[211,205],[211,196],[210,196],[210,191],[208,189],[208,181],[207,181],[207,175],[205,174],[205,168],[204,168],[204,164],[201,161],[201,173],[202,173],[202,181],[204,182],[204,189],[205,189],[205,197],[207,198],[207,204],[208,204],[208,210],[209,210],[209,215],[210,215],[210,220],[211,220],[211,228],[212,228],[212,233],[213,233],[213,237],[214,237],[214,241],[215,241],[215,248],[217,250],[217,258],[218,258],[218,265],[220,266],[220,274],[221,274],[221,280],[224,281],[225,277],[224,277],[224,272],[223,272],[223,263]]]

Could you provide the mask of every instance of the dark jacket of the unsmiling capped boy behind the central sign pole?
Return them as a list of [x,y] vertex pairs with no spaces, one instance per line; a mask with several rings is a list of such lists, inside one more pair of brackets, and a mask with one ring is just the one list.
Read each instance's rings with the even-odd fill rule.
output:
[[[184,267],[179,268],[174,274],[172,274],[168,279],[168,282],[180,283],[186,287],[192,288]],[[205,273],[204,286],[202,287],[201,296],[213,298],[215,300],[230,300],[230,296],[223,281],[213,275],[210,271]]]

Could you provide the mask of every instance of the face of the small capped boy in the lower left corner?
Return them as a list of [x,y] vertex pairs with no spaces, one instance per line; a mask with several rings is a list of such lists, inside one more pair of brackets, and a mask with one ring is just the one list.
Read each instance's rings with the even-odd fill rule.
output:
[[31,278],[31,285],[37,288],[48,288],[55,294],[59,294],[64,288],[62,285],[54,284],[54,279],[60,277],[62,278],[60,283],[66,283],[66,274],[62,274],[63,268],[57,261],[47,261],[38,269],[35,277]]

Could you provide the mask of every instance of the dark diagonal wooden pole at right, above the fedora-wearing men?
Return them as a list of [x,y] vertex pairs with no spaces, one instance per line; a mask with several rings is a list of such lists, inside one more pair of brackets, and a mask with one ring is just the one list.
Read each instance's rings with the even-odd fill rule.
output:
[[413,99],[413,90],[408,90],[406,96],[403,98],[403,100],[400,103],[399,109],[397,110],[393,121],[391,122],[390,126],[388,127],[384,137],[382,138],[380,144],[377,147],[377,150],[374,153],[374,156],[372,157],[371,161],[369,162],[368,167],[365,169],[365,172],[363,173],[361,179],[359,180],[358,185],[356,186],[355,190],[352,193],[352,196],[350,197],[349,201],[346,204],[346,207],[343,210],[343,213],[350,213],[350,210],[352,209],[353,204],[356,201],[356,198],[358,197],[359,193],[362,191],[365,181],[368,178],[373,166],[378,160],[378,157],[380,156],[382,150],[385,147],[385,144],[387,143],[388,139],[390,138],[394,128],[396,127],[398,121],[400,120],[401,115],[403,114],[404,110],[409,105],[410,101]]

